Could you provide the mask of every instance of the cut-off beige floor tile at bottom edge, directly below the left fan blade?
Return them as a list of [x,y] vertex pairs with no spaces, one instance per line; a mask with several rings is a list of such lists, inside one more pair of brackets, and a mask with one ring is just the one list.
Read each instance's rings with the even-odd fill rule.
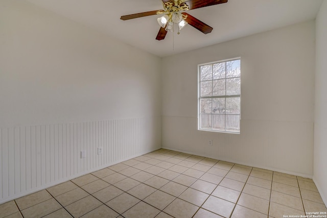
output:
[[122,215],[125,218],[152,218],[155,217],[159,212],[160,210],[158,210],[157,208],[152,207],[147,203],[139,202]]

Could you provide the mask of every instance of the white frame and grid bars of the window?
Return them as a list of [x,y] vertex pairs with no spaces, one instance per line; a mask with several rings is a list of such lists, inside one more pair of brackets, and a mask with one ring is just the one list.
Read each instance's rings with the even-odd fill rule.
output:
[[[238,57],[238,58],[233,58],[233,59],[226,59],[226,60],[221,60],[221,61],[216,61],[216,62],[210,62],[210,63],[205,63],[205,64],[199,64],[198,65],[198,130],[201,130],[201,131],[209,131],[209,132],[221,132],[221,133],[233,133],[233,134],[241,134],[241,91],[240,91],[240,94],[233,94],[233,95],[227,95],[227,93],[225,93],[225,95],[211,95],[211,96],[201,96],[201,66],[206,66],[206,65],[214,65],[214,64],[217,64],[217,63],[226,63],[228,61],[235,61],[235,60],[240,60],[240,66],[241,66],[241,58]],[[226,74],[226,72],[225,72]],[[242,74],[242,73],[241,73]],[[241,80],[241,75],[240,77],[235,77],[235,78],[240,78]],[[225,77],[226,79],[226,77]],[[229,79],[229,78],[228,78]],[[206,81],[214,81],[215,79],[212,78],[211,80],[206,80]],[[241,84],[240,84],[241,86]],[[225,84],[225,91],[226,91],[226,84]],[[241,87],[240,87],[240,90],[241,90]],[[225,113],[224,114],[220,114],[220,115],[225,115],[225,131],[222,131],[222,130],[216,130],[216,129],[204,129],[204,128],[201,128],[201,99],[217,99],[217,98],[225,98],[225,103],[226,103],[226,99],[227,98],[240,98],[240,114],[235,114],[235,115],[239,115],[240,116],[240,130],[239,132],[235,132],[235,131],[227,131],[226,130],[226,115],[233,115],[233,114],[228,114]],[[226,105],[226,104],[225,104]],[[202,113],[203,114],[203,113]],[[213,124],[213,121],[214,121],[214,115],[217,115],[213,112],[211,113],[206,113],[206,114],[211,114],[212,115],[212,124]]]

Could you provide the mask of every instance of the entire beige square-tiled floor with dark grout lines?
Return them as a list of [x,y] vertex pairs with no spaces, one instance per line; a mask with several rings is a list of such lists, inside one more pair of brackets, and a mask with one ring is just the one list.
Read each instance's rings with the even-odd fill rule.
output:
[[0,205],[0,217],[286,217],[327,212],[311,179],[160,149]]

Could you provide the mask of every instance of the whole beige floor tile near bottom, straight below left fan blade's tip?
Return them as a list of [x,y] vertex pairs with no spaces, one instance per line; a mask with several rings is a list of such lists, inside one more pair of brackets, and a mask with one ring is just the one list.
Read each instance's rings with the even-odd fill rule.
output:
[[108,201],[106,205],[115,210],[116,212],[122,214],[138,202],[140,202],[139,199],[125,192],[122,195]]

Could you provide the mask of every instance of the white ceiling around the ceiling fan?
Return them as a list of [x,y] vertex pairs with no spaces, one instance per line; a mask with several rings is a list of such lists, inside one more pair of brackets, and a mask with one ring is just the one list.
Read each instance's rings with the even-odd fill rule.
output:
[[[228,0],[188,13],[214,28],[203,34],[188,25],[180,34],[155,39],[153,15],[121,20],[122,15],[162,9],[161,0],[26,0],[159,57],[292,25],[316,17],[322,0]],[[205,0],[203,0],[205,1]]]

